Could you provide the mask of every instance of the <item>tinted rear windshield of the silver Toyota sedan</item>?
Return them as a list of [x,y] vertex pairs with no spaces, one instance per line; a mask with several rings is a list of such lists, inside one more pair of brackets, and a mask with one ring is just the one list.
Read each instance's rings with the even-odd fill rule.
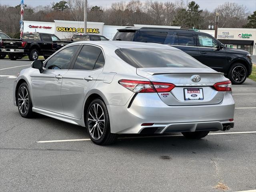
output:
[[189,67],[207,68],[198,60],[181,50],[159,48],[120,48],[116,54],[125,62],[136,68],[149,67]]

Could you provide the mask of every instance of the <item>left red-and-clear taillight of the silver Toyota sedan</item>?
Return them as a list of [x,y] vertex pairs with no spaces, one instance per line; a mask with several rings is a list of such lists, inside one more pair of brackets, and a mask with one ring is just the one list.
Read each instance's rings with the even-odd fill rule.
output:
[[152,93],[152,92],[170,92],[175,85],[171,83],[136,81],[136,80],[120,80],[119,84],[132,92]]

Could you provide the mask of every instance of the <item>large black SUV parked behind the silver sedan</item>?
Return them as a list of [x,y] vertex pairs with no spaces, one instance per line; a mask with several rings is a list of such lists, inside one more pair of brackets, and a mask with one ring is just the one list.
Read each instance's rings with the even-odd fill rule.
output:
[[189,29],[127,27],[118,29],[113,40],[160,43],[176,47],[206,66],[223,72],[233,84],[242,84],[252,73],[249,52],[227,48],[203,32]]

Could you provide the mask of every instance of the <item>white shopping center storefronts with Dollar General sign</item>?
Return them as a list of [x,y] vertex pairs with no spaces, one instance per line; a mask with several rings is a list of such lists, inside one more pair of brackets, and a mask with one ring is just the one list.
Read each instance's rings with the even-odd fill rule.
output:
[[[135,27],[151,26],[136,25]],[[151,26],[165,28],[180,28],[179,26]],[[118,28],[124,26],[109,26],[102,22],[87,22],[87,33],[99,34],[112,39]],[[214,30],[200,30],[214,36]],[[60,39],[68,39],[75,33],[84,33],[84,22],[54,20],[54,22],[24,21],[24,32],[44,32],[55,34]],[[218,28],[217,39],[230,48],[238,48],[256,55],[256,29],[248,28]]]

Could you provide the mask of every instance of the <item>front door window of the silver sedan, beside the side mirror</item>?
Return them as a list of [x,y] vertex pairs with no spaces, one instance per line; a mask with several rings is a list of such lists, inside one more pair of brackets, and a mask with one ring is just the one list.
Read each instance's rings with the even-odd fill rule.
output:
[[69,69],[71,64],[71,58],[74,56],[80,45],[74,45],[67,47],[50,58],[46,66],[46,69]]

